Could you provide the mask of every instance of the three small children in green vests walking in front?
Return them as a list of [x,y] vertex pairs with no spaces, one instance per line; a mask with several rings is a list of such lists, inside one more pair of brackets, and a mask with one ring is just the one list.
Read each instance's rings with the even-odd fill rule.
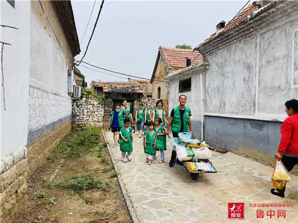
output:
[[[155,123],[155,126],[154,126]],[[144,134],[144,152],[148,165],[156,160],[156,151],[160,151],[159,163],[164,163],[164,150],[166,150],[165,129],[160,125],[162,120],[156,117],[148,122],[148,130]],[[130,155],[133,151],[134,129],[130,126],[130,119],[124,118],[124,126],[120,129],[120,150],[122,152],[123,162],[131,161]]]

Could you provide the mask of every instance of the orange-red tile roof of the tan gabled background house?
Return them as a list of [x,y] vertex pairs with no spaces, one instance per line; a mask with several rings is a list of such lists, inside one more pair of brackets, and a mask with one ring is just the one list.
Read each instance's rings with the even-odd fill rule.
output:
[[203,61],[203,56],[193,50],[159,47],[169,69],[186,67],[186,58],[191,58],[191,65]]

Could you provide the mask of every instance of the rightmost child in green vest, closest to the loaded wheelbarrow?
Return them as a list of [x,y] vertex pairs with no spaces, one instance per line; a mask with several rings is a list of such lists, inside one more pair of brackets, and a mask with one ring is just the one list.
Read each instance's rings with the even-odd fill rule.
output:
[[156,151],[160,150],[160,161],[159,163],[164,163],[164,150],[166,150],[166,137],[165,137],[165,130],[160,125],[162,120],[160,117],[155,118],[155,132],[156,132],[156,149],[152,156],[152,160],[156,160]]

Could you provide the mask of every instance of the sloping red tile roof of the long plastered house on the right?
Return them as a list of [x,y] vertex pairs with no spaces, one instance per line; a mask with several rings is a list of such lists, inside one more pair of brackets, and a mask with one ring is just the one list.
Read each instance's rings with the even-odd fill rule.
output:
[[212,34],[207,40],[205,40],[203,43],[201,43],[199,46],[197,46],[194,50],[198,50],[199,47],[206,45],[211,40],[213,40],[216,36],[220,36],[226,31],[234,28],[235,26],[238,26],[240,23],[244,21],[244,18],[254,11],[258,10],[260,8],[260,5],[253,5],[249,4],[246,8],[244,8],[234,19],[227,22],[224,27],[224,31],[216,35],[216,33]]

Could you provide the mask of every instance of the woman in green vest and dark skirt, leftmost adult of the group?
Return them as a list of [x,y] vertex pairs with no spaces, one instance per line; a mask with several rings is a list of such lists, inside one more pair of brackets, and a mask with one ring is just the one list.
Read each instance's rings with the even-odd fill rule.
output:
[[126,109],[120,105],[116,105],[115,111],[112,111],[110,113],[110,120],[109,120],[109,131],[112,128],[113,132],[113,137],[114,137],[114,142],[115,145],[114,147],[117,147],[117,132],[120,132],[120,128],[124,126],[124,117],[125,114],[127,113]]

